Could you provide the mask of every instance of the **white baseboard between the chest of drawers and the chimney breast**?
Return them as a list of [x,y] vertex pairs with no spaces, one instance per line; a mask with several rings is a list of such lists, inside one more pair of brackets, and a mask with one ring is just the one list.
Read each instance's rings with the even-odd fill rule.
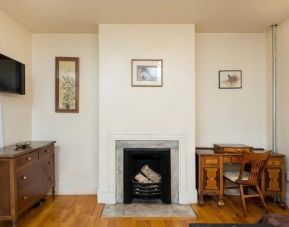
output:
[[57,195],[87,195],[96,194],[97,185],[93,181],[58,182],[55,191]]

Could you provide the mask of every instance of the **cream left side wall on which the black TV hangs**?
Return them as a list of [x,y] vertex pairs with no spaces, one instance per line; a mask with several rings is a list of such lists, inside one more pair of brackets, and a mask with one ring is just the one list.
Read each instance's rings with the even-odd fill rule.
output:
[[0,10],[0,53],[25,64],[26,95],[3,93],[4,145],[31,140],[31,34]]

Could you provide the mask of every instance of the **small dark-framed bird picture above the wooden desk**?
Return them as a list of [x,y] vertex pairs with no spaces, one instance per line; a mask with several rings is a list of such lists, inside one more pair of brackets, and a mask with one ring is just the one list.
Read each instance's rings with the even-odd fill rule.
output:
[[241,89],[242,70],[219,70],[219,89]]

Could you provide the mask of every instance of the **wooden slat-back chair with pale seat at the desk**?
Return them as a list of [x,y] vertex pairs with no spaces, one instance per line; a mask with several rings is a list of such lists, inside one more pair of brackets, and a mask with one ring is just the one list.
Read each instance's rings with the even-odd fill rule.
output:
[[[240,196],[241,196],[242,204],[243,204],[244,216],[247,215],[245,199],[252,198],[252,197],[260,197],[264,205],[264,208],[266,212],[268,213],[268,208],[266,206],[265,200],[260,190],[259,182],[260,182],[260,178],[263,173],[263,170],[270,156],[271,156],[270,151],[264,152],[264,153],[243,153],[243,161],[241,164],[240,171],[224,172],[225,179],[239,186]],[[253,188],[256,193],[244,194],[244,187]]]

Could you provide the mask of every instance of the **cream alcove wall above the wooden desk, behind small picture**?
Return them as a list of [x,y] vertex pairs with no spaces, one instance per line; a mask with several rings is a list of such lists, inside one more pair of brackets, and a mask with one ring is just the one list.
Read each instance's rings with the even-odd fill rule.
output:
[[[266,34],[196,35],[196,145],[267,147]],[[242,70],[242,89],[219,89],[218,71]]]

